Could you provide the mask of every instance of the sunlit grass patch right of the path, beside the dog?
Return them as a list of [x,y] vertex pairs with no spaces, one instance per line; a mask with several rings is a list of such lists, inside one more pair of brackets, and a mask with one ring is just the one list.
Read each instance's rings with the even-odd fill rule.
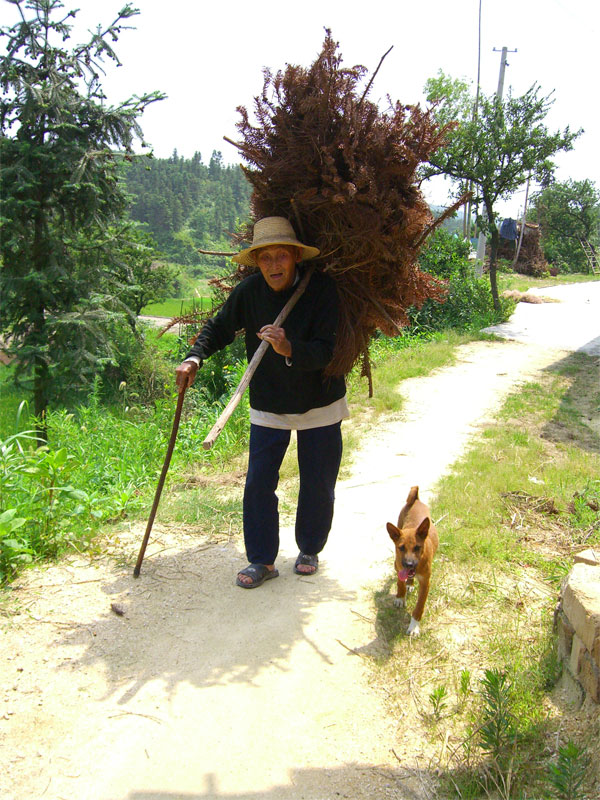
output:
[[[441,542],[426,612],[435,624],[419,640],[407,640],[389,585],[375,597],[377,679],[442,768],[445,798],[566,797],[552,786],[571,785],[600,756],[597,712],[586,725],[553,693],[560,581],[574,551],[600,544],[592,386],[596,359],[554,364],[507,399],[439,482],[432,506]],[[588,769],[582,785],[591,791],[593,780]]]

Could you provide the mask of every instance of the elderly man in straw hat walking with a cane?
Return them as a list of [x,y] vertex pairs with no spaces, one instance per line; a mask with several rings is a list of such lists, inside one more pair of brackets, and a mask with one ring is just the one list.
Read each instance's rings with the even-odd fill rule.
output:
[[221,310],[203,327],[176,371],[179,391],[190,386],[202,362],[245,331],[248,361],[261,340],[271,346],[250,381],[250,450],[244,490],[244,541],[249,565],[236,579],[253,589],[279,575],[279,468],[295,430],[300,491],[296,511],[294,571],[317,571],[333,519],[334,491],[342,456],[341,421],[348,417],[341,377],[325,377],[338,319],[333,280],[314,272],[283,327],[272,321],[294,293],[300,262],[319,255],[298,241],[283,217],[265,217],[254,226],[252,245],[233,256],[258,271],[242,280]]

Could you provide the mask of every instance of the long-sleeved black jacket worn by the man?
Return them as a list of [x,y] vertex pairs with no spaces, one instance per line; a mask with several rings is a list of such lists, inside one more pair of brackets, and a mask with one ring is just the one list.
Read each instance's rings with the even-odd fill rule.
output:
[[[188,357],[194,355],[204,361],[230,344],[236,332],[244,329],[250,361],[261,343],[257,332],[275,321],[294,288],[275,292],[259,272],[245,278],[202,328]],[[333,280],[322,272],[314,272],[282,326],[292,345],[291,366],[286,364],[284,356],[272,347],[267,348],[250,381],[252,408],[275,414],[303,414],[344,396],[343,378],[323,376],[333,355],[338,306]]]

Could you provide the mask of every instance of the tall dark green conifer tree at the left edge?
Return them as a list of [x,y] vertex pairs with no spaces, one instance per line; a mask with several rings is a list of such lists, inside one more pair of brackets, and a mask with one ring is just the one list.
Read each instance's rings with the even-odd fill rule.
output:
[[105,102],[102,64],[120,63],[111,42],[138,13],[131,5],[68,50],[76,11],[60,0],[8,2],[21,20],[0,29],[0,318],[43,420],[110,359],[103,320],[119,308],[110,263],[127,208],[119,165],[142,137],[138,116],[162,95]]

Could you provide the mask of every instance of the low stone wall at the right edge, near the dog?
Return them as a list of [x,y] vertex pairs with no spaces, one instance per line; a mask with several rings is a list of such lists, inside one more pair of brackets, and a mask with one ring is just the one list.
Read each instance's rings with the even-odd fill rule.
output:
[[600,703],[600,551],[575,556],[555,612],[563,675],[573,699]]

